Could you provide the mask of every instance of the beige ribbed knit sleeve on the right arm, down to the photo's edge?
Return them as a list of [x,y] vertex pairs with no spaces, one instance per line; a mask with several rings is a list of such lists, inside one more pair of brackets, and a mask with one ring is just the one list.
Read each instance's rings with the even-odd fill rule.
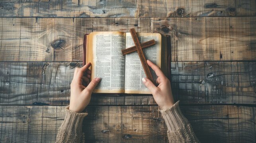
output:
[[190,123],[180,110],[179,101],[160,112],[168,128],[167,136],[170,143],[199,143]]

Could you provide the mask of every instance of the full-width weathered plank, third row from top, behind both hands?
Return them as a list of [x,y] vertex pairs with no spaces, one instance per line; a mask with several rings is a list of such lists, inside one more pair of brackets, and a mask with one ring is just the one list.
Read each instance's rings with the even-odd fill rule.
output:
[[[81,62],[0,62],[0,104],[69,104]],[[182,104],[255,104],[256,62],[171,62]],[[155,105],[151,95],[94,94],[92,105]]]

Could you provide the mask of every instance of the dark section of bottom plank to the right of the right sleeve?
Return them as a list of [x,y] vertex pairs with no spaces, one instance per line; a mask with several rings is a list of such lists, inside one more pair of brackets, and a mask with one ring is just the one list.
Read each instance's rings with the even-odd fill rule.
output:
[[255,107],[182,106],[202,143],[254,143]]

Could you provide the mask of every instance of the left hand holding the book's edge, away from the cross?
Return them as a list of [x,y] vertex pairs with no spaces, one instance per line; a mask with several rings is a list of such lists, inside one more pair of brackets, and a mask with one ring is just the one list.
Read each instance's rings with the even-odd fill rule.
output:
[[93,89],[100,82],[100,78],[91,78],[91,71],[88,69],[91,63],[84,65],[82,68],[76,68],[74,77],[70,86],[70,105],[69,110],[82,112],[89,104]]

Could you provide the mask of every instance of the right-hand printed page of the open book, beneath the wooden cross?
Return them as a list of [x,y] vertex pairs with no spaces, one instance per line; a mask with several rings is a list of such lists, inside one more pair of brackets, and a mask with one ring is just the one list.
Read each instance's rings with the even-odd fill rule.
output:
[[[151,39],[156,41],[155,45],[143,48],[143,53],[146,59],[161,67],[161,35],[159,33],[137,33],[137,35],[140,43],[147,42]],[[126,33],[125,43],[125,48],[135,45],[131,33]],[[151,68],[150,71],[153,79],[156,80],[156,74]],[[143,77],[146,77],[146,74],[138,53],[133,52],[125,55],[125,93],[151,94],[141,80]]]

